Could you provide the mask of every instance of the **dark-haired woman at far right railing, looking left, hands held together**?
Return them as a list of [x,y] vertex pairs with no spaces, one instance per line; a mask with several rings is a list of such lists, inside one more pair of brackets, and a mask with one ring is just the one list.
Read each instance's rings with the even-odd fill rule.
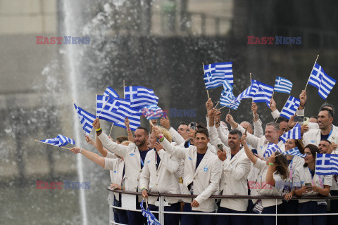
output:
[[[319,149],[309,144],[305,147],[303,167],[298,167],[294,172],[294,185],[298,186],[294,193],[299,197],[305,196],[327,196],[332,186],[332,175],[320,176],[315,174],[315,158]],[[327,204],[325,200],[299,199],[298,212],[300,214],[326,213]],[[299,217],[299,224],[326,224],[325,216]]]

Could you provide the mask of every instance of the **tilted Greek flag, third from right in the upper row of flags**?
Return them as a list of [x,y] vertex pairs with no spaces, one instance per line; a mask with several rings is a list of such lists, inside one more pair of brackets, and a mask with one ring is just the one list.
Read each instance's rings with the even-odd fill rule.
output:
[[256,80],[251,81],[251,86],[253,90],[256,90],[256,93],[253,96],[254,103],[263,103],[265,102],[268,107],[270,106],[271,97],[273,96],[273,86],[258,82]]

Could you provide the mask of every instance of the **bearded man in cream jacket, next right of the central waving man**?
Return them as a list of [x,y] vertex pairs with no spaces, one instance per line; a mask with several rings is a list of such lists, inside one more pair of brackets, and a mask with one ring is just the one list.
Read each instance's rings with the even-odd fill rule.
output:
[[[215,110],[208,113],[210,133],[215,133]],[[215,135],[210,135],[214,139]],[[241,146],[242,133],[233,129],[228,134],[228,144],[223,145],[223,150],[218,149],[218,158],[223,162],[220,191],[223,195],[247,195],[248,186],[246,178],[250,172],[250,160],[246,157],[244,148]],[[220,139],[211,140],[221,144]],[[222,199],[218,211],[220,213],[245,213],[248,207],[246,199]],[[243,216],[218,216],[216,224],[247,224],[247,218]]]

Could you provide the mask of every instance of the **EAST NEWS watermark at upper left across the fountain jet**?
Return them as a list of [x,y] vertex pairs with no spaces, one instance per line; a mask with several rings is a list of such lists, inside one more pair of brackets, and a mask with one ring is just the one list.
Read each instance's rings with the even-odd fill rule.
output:
[[90,37],[44,37],[36,36],[36,44],[90,44]]

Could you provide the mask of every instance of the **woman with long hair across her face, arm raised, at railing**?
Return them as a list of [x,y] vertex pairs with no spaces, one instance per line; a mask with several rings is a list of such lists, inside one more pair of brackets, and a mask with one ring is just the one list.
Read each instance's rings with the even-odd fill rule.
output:
[[[256,180],[255,188],[258,188],[258,195],[282,195],[281,184],[289,176],[287,169],[287,158],[282,153],[273,153],[265,162],[253,155],[249,146],[246,143],[246,135],[242,136],[242,145],[246,156],[253,163],[253,166],[259,169],[259,174]],[[277,199],[277,205],[282,204],[282,200]],[[275,214],[276,200],[275,199],[258,199],[253,206],[253,212],[263,214]],[[253,225],[272,225],[276,224],[276,218],[273,217],[252,217]]]

